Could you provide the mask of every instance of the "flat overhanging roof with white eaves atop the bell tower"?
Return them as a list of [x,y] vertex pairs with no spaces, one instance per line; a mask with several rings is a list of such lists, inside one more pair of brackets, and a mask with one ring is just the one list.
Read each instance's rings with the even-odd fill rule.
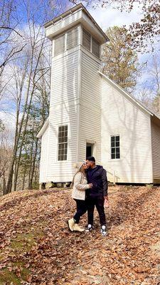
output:
[[44,25],[46,28],[46,36],[52,39],[58,36],[58,34],[68,30],[68,28],[72,28],[80,23],[87,28],[90,33],[95,35],[100,43],[105,43],[109,40],[104,31],[102,31],[102,28],[100,28],[82,4],[78,4],[60,16],[55,17],[53,20],[48,21]]

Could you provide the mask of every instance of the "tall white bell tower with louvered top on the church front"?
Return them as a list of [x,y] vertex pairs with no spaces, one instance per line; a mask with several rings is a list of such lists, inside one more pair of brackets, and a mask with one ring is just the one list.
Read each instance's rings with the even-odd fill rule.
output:
[[45,28],[52,41],[46,180],[70,182],[73,164],[88,153],[100,162],[98,71],[107,36],[82,4],[49,21]]

